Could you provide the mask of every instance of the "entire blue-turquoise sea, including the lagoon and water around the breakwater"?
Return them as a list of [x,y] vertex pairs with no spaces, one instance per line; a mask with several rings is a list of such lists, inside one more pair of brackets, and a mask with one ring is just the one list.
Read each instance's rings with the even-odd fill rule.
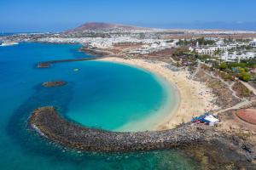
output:
[[[164,84],[128,65],[86,61],[37,69],[39,61],[90,57],[79,45],[21,43],[0,48],[1,169],[196,169],[180,150],[129,154],[80,153],[52,144],[27,125],[33,109],[55,105],[84,125],[120,129],[161,111],[169,98]],[[73,69],[79,68],[79,71]],[[43,88],[65,80],[67,86]],[[100,112],[100,113],[99,113]]]

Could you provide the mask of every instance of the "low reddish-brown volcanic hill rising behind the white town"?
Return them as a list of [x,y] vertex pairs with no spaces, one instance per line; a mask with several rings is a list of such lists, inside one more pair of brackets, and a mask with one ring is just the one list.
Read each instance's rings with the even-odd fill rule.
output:
[[82,26],[69,30],[67,32],[77,32],[77,31],[104,31],[104,30],[141,30],[145,29],[142,27],[137,26],[125,26],[125,25],[118,25],[118,24],[109,24],[109,23],[102,23],[102,22],[90,22],[85,23]]

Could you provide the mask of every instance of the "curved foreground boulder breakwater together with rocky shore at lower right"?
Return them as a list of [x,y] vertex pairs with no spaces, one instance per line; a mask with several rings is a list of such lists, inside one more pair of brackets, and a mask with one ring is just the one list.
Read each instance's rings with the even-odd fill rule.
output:
[[233,133],[201,124],[155,132],[110,132],[68,122],[52,106],[33,111],[30,124],[40,135],[77,150],[128,152],[178,147],[206,169],[256,169],[253,145]]

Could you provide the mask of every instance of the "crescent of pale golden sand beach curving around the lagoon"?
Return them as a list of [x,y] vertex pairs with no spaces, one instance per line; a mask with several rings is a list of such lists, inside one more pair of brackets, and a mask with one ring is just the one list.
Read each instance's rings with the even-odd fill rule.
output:
[[[163,130],[176,127],[182,122],[189,122],[192,116],[200,116],[206,111],[218,109],[217,105],[212,104],[215,98],[211,89],[207,88],[202,82],[189,79],[188,71],[172,71],[167,68],[168,64],[160,61],[148,61],[146,59],[121,59],[104,58],[103,61],[118,62],[128,65],[142,67],[154,74],[163,77],[170,86],[175,86],[179,94],[179,104],[176,109],[172,109],[170,114],[161,117],[160,123],[154,127],[155,130]],[[147,122],[147,121],[146,121]],[[147,123],[144,123],[145,126]]]

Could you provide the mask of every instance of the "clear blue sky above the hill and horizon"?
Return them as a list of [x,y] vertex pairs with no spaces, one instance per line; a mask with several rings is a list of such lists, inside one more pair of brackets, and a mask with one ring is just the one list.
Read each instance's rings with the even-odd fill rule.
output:
[[256,31],[255,0],[1,0],[0,31],[65,31],[86,22]]

